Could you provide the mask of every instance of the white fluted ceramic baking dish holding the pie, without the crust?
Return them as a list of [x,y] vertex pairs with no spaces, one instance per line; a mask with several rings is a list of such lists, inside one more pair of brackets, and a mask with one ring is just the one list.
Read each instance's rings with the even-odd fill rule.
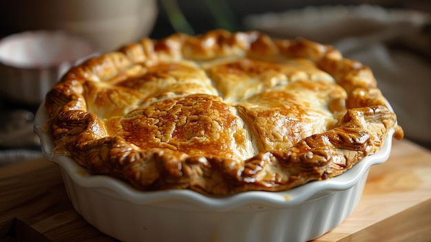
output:
[[118,179],[90,175],[69,157],[54,154],[43,131],[41,105],[35,131],[47,159],[58,163],[74,208],[120,241],[308,241],[335,228],[359,203],[371,165],[390,155],[392,134],[380,152],[333,179],[285,192],[243,192],[211,198],[189,190],[142,192]]

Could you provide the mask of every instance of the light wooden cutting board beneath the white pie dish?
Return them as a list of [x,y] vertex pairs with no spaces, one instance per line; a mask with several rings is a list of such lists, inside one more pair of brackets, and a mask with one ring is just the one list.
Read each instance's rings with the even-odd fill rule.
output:
[[[45,159],[0,169],[0,241],[15,239],[116,241],[75,212],[59,167]],[[431,241],[431,152],[394,141],[353,214],[315,241]]]

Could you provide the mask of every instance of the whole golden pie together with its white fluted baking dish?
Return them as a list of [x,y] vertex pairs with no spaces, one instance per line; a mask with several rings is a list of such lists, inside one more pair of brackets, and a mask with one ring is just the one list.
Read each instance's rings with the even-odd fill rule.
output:
[[403,135],[366,65],[224,30],[77,65],[35,129],[76,211],[120,241],[315,239]]

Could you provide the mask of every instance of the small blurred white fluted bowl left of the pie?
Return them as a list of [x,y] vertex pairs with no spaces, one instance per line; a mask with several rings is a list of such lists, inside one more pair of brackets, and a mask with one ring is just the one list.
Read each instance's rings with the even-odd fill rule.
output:
[[39,105],[72,65],[96,54],[92,43],[61,31],[28,31],[0,40],[0,92]]

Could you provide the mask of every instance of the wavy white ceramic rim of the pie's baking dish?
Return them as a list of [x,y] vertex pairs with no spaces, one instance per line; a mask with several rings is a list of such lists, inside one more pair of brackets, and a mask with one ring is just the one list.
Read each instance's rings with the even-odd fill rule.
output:
[[[388,108],[392,110],[388,103]],[[381,146],[379,152],[365,157],[361,162],[353,165],[352,168],[331,179],[324,181],[311,181],[291,190],[281,192],[269,191],[245,191],[224,197],[211,197],[193,190],[157,190],[142,191],[134,188],[131,184],[109,177],[103,174],[90,174],[81,165],[78,165],[72,158],[55,154],[52,138],[45,132],[44,124],[48,120],[48,113],[41,104],[36,112],[34,121],[34,132],[41,139],[41,150],[49,161],[61,166],[72,181],[89,191],[102,192],[116,199],[122,199],[129,203],[138,205],[158,206],[163,201],[176,199],[183,203],[178,203],[178,208],[186,203],[197,205],[196,209],[231,210],[242,207],[246,204],[268,205],[274,208],[289,208],[315,199],[322,199],[324,196],[339,190],[347,190],[357,185],[364,176],[368,175],[368,170],[372,165],[386,162],[390,156],[392,148],[392,137],[395,128],[388,130],[386,141]],[[88,175],[87,175],[88,174]],[[187,205],[184,207],[189,208]]]

